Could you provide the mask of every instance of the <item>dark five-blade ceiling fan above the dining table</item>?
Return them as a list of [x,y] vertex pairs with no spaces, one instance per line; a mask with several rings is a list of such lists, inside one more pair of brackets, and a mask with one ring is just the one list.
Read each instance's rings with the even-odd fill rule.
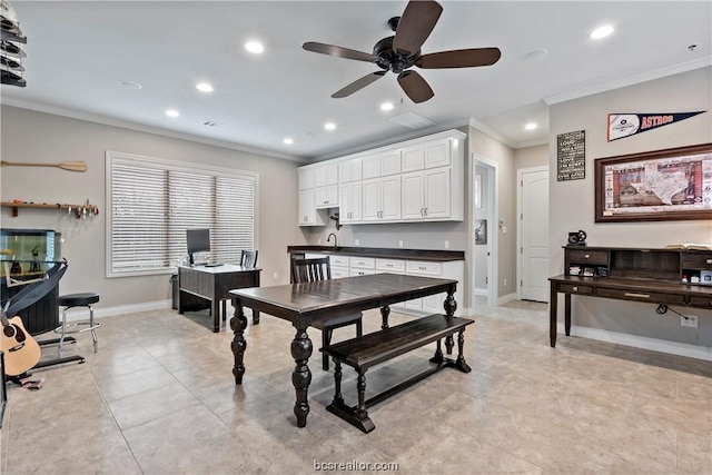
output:
[[374,52],[367,53],[333,44],[314,41],[301,46],[307,51],[337,58],[373,62],[383,71],[372,72],[334,92],[333,98],[344,98],[365,88],[386,72],[398,75],[398,83],[413,102],[425,102],[434,96],[433,89],[413,66],[422,69],[473,68],[491,66],[502,56],[498,48],[471,48],[421,55],[421,47],[435,28],[443,7],[434,0],[412,0],[402,17],[388,20],[388,28],[395,36],[384,38],[374,46]]

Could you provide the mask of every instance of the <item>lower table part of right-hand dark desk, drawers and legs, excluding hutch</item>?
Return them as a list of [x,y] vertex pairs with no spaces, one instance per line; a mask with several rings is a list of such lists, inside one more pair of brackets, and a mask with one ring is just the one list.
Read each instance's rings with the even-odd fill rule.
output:
[[556,314],[558,294],[564,294],[564,329],[571,335],[571,296],[613,298],[649,304],[712,308],[712,287],[614,277],[582,277],[560,275],[551,277],[548,299],[550,344],[556,346]]

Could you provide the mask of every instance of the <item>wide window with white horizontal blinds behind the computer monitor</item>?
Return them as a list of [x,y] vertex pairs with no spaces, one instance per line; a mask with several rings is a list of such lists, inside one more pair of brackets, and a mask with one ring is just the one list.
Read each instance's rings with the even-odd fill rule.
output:
[[210,260],[255,248],[257,175],[107,151],[107,277],[172,273],[186,229],[210,229]]

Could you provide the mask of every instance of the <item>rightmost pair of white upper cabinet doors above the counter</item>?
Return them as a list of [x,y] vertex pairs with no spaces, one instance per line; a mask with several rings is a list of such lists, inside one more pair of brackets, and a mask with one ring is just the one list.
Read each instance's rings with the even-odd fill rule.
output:
[[451,212],[451,167],[403,175],[403,220],[443,220]]

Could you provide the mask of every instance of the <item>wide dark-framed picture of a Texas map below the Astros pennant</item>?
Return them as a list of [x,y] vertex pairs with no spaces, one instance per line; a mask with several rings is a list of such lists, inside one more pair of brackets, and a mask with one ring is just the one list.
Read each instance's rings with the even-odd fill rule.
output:
[[599,158],[595,221],[712,219],[712,144]]

